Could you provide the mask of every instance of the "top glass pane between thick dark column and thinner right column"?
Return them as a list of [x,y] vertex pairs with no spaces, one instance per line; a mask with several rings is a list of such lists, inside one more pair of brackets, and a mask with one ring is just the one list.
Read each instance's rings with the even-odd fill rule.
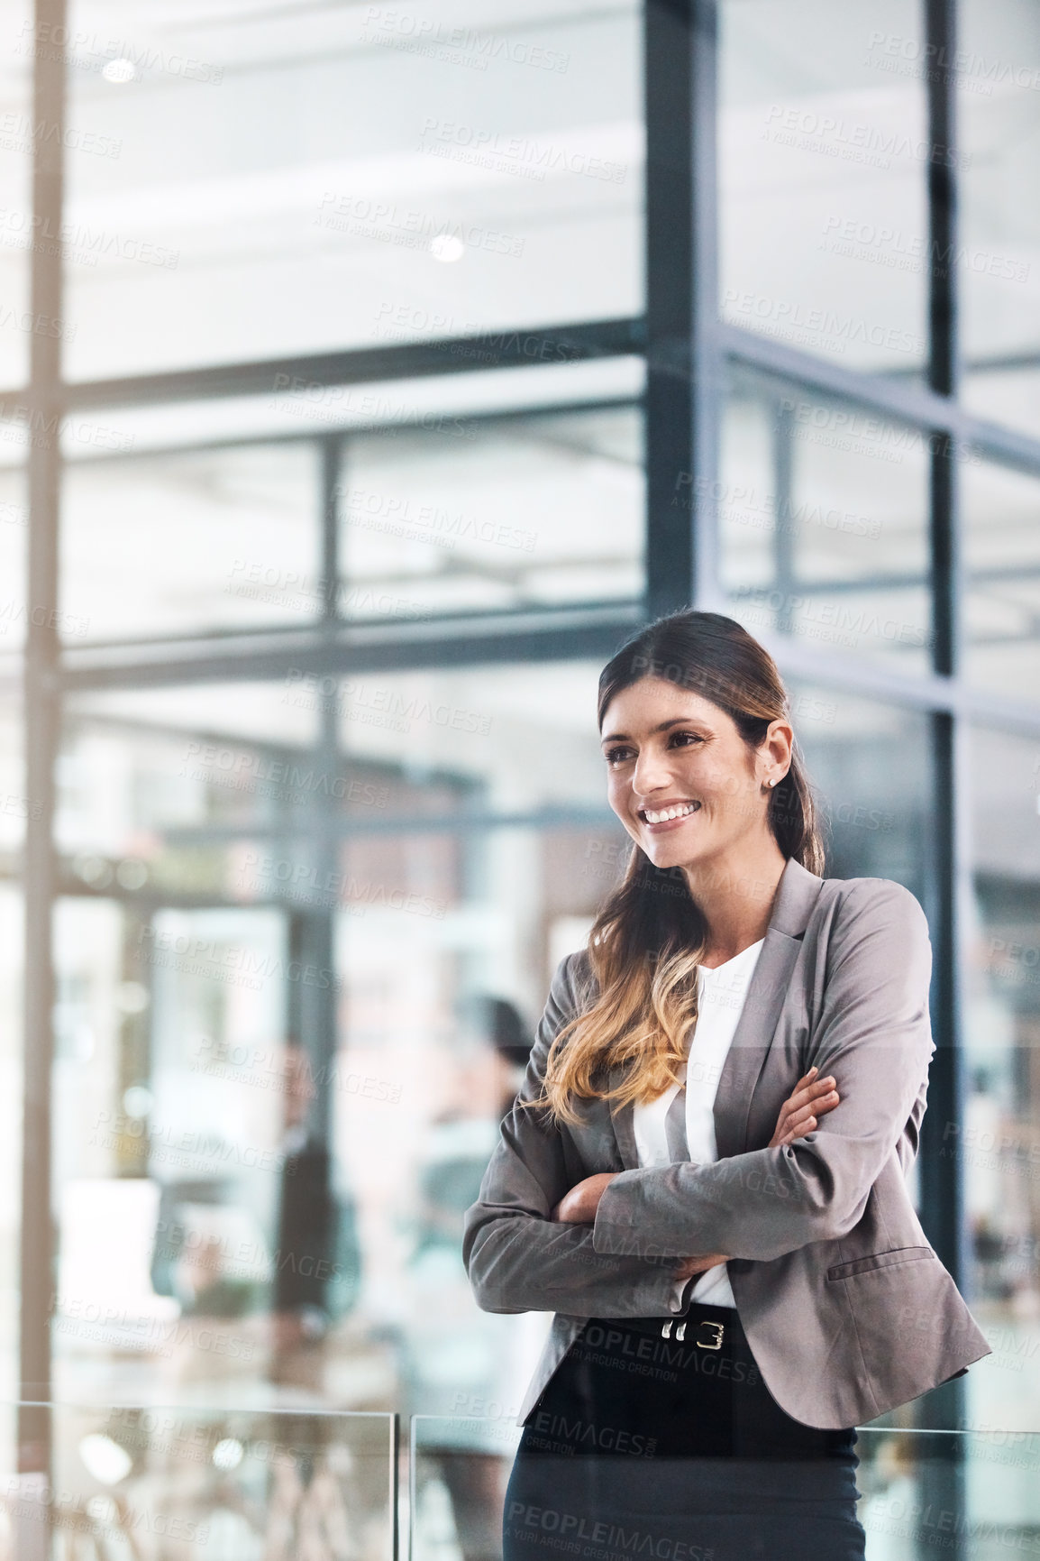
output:
[[920,6],[727,0],[720,14],[722,317],[848,368],[920,372]]

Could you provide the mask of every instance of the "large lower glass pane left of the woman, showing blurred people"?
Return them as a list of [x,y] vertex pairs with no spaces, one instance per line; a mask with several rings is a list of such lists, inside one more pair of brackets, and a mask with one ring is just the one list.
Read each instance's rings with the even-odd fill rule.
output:
[[[70,1396],[143,1392],[156,1363],[175,1400],[206,1380],[449,1413],[522,1391],[547,1319],[477,1310],[462,1214],[552,968],[622,860],[597,673],[69,698]],[[103,1330],[72,1327],[87,1308]]]

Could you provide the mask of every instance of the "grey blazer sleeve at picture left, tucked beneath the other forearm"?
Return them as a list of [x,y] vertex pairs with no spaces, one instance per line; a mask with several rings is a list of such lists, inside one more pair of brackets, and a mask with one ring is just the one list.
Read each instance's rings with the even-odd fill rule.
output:
[[652,1317],[675,1310],[670,1257],[599,1253],[593,1227],[554,1224],[552,1210],[580,1180],[569,1174],[566,1127],[538,1107],[546,1058],[557,1032],[577,1012],[575,965],[557,969],[524,1086],[466,1213],[463,1260],[483,1311],[563,1311],[577,1317]]

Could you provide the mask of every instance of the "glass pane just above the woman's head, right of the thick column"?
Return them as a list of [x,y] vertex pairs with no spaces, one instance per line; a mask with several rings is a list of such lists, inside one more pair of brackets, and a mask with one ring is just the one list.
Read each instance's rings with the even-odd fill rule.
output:
[[925,436],[738,375],[716,498],[722,585],[752,634],[928,670]]

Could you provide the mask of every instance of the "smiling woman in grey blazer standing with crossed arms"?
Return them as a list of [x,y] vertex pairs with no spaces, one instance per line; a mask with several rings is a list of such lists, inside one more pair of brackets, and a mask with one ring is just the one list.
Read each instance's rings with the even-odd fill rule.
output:
[[650,624],[599,718],[635,849],[466,1218],[479,1303],[557,1310],[504,1553],[564,1513],[647,1525],[655,1555],[744,1561],[769,1533],[775,1561],[856,1561],[854,1427],[989,1353],[906,1188],[925,916],[822,877],[784,687],[731,618]]

